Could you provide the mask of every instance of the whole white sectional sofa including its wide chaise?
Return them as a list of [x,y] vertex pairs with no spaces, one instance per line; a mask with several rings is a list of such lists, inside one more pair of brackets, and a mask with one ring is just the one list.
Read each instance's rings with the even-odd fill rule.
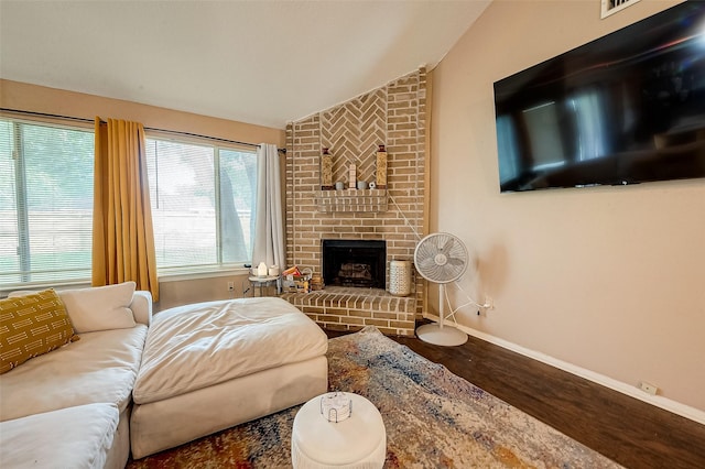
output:
[[[123,468],[130,451],[142,458],[327,390],[325,332],[281,298],[185,305],[152,321],[151,295],[133,282],[11,297],[0,299],[2,469]],[[45,324],[63,326],[61,340],[15,359],[19,335],[7,329],[54,306],[63,316]]]

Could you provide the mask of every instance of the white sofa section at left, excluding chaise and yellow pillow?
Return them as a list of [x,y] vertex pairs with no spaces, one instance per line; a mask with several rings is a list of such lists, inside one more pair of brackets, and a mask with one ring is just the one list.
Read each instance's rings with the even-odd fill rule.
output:
[[123,468],[152,297],[133,282],[56,293],[79,339],[0,374],[0,466]]

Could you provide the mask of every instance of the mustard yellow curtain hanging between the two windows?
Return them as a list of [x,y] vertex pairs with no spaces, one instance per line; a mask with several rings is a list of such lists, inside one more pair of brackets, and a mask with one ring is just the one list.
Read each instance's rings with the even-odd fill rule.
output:
[[144,127],[96,118],[93,285],[134,281],[159,302]]

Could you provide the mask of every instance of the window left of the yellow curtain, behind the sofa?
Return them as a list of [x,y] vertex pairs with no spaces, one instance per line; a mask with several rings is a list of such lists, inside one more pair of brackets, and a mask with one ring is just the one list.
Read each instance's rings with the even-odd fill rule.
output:
[[0,286],[90,279],[94,134],[0,119]]

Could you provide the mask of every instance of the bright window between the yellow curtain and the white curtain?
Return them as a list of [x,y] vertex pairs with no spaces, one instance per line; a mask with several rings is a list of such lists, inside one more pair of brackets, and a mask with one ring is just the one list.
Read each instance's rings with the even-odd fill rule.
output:
[[148,139],[147,161],[160,273],[249,262],[253,152]]

